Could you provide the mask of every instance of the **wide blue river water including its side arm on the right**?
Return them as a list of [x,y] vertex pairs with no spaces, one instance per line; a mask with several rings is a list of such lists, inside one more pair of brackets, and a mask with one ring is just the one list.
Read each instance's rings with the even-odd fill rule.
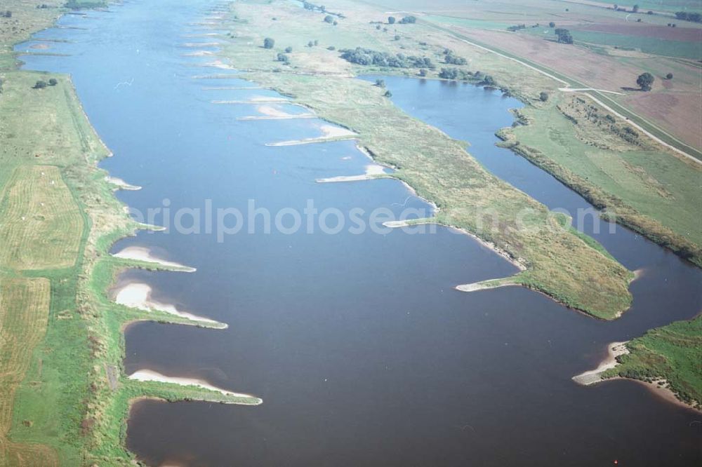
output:
[[[101,166],[143,187],[118,194],[135,215],[207,203],[246,212],[249,200],[273,215],[302,212],[308,200],[319,212],[360,208],[365,221],[376,208],[396,216],[406,207],[428,209],[392,180],[315,183],[364,171],[369,161],[352,142],[265,146],[319,135],[320,121],[239,121],[257,106],[212,104],[274,95],[203,89],[251,86],[234,72],[197,66],[211,57],[183,56],[197,50],[183,43],[213,41],[185,36],[208,32],[193,23],[214,5],[189,1],[164,11],[159,2],[135,0],[65,16],[60,25],[85,29],[39,34],[69,39],[50,50],[70,55],[25,57],[29,68],[72,74],[114,151]],[[193,78],[213,74],[232,78]],[[552,208],[587,206],[494,146],[515,100],[472,86],[385,81],[400,107],[470,141],[471,154],[496,175]],[[632,382],[583,388],[571,381],[597,364],[608,342],[689,318],[701,306],[698,270],[621,227],[597,239],[646,272],[631,287],[633,308],[602,323],[516,287],[456,292],[456,284],[515,269],[448,229],[352,234],[347,222],[338,234],[265,234],[258,218],[254,234],[244,229],[218,241],[203,224],[199,234],[142,232],[114,247],[148,246],[197,272],[129,271],[121,280],[148,283],[157,299],[229,328],[133,325],[126,370],[198,377],[264,403],[139,402],[127,443],[150,465],[592,466],[618,459],[689,466],[702,459],[698,414]]]

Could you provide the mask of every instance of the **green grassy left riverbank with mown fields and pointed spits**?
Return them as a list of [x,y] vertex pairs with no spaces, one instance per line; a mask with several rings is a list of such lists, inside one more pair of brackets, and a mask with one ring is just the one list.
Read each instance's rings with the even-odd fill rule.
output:
[[[26,6],[13,3],[22,27],[3,37],[3,50],[62,11]],[[11,54],[2,60],[15,63]],[[138,398],[260,403],[125,377],[126,324],[204,323],[108,299],[121,269],[164,269],[109,255],[114,241],[145,228],[96,167],[110,151],[69,76],[5,69],[0,78],[0,464],[127,465],[126,416]],[[57,83],[34,88],[50,79]]]

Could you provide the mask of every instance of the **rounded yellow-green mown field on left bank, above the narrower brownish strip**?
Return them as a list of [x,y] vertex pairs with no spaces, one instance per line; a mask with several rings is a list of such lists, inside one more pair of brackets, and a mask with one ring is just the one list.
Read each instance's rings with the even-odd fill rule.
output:
[[48,269],[76,262],[84,222],[58,168],[16,168],[0,213],[3,267]]

